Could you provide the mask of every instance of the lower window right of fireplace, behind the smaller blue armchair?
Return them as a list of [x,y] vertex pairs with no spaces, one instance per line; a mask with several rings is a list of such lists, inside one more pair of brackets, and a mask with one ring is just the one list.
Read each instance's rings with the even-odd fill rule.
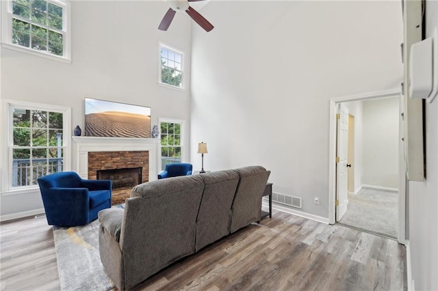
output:
[[163,170],[167,164],[181,163],[182,127],[182,122],[160,122]]

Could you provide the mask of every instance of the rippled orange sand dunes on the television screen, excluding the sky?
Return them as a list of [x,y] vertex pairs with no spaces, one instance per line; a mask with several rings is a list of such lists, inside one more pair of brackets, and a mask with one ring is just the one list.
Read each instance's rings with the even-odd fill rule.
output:
[[85,115],[88,137],[151,137],[151,117],[147,115],[105,111]]

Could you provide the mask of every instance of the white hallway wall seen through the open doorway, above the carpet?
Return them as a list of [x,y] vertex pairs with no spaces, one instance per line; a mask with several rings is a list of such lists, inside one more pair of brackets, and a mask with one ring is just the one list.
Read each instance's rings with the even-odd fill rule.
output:
[[398,189],[398,97],[363,101],[362,184]]

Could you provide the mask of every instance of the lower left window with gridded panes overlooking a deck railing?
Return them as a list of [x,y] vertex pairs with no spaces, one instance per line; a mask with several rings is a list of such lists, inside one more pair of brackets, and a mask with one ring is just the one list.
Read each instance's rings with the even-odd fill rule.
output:
[[9,110],[10,185],[36,186],[41,176],[64,171],[69,111],[23,105]]

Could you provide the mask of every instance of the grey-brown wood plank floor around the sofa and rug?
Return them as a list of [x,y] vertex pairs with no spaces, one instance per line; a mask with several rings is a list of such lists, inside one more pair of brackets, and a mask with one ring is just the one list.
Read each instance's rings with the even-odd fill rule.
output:
[[[59,290],[45,217],[1,223],[1,290]],[[396,240],[274,211],[133,290],[407,290]]]

